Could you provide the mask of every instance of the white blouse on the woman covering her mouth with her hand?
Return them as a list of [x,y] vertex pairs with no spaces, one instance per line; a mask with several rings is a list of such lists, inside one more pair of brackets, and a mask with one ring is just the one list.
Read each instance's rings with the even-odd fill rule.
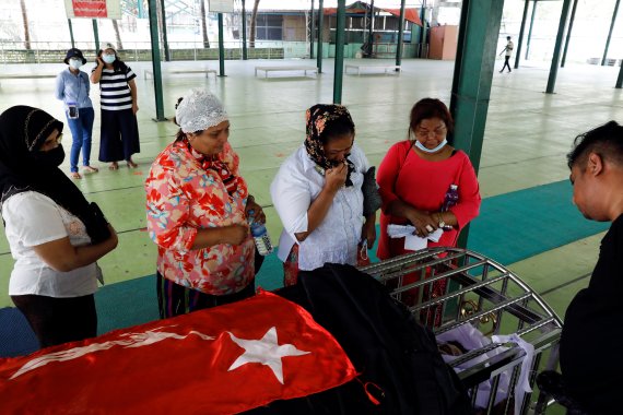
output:
[[327,262],[356,263],[363,217],[363,174],[369,168],[364,152],[353,144],[349,159],[353,186],[342,187],[333,198],[325,220],[298,242],[294,234],[307,230],[307,211],[325,186],[325,176],[318,173],[305,145],[301,145],[280,167],[270,185],[272,203],[283,224],[278,257],[285,261],[294,244],[298,244],[298,269],[304,271]]

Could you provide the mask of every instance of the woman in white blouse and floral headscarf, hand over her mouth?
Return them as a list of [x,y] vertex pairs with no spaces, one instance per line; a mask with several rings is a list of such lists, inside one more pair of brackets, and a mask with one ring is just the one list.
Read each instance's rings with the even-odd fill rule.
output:
[[286,286],[296,284],[299,270],[327,262],[355,265],[358,250],[374,245],[375,213],[364,213],[362,192],[369,164],[354,140],[355,124],[344,106],[313,106],[304,144],[270,186],[283,224],[278,256]]

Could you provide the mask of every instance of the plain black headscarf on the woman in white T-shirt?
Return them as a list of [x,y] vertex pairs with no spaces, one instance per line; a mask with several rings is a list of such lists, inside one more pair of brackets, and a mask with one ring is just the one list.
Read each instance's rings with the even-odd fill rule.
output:
[[110,236],[99,208],[90,204],[58,168],[64,157],[60,145],[49,152],[39,151],[51,132],[61,132],[62,127],[46,111],[23,105],[0,115],[0,203],[24,191],[45,194],[78,216],[96,244]]

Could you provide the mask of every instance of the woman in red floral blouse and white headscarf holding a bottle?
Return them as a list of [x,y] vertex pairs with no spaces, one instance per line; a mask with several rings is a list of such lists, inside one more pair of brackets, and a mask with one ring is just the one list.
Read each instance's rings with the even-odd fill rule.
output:
[[175,122],[176,140],[145,181],[161,318],[252,296],[263,259],[247,223],[249,216],[261,223],[266,217],[227,142],[223,105],[207,91],[191,91],[178,100]]

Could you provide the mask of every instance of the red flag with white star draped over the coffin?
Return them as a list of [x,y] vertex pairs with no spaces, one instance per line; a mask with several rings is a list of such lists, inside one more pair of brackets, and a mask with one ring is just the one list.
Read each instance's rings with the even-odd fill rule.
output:
[[356,371],[299,306],[227,306],[0,359],[2,413],[230,414],[343,384]]

